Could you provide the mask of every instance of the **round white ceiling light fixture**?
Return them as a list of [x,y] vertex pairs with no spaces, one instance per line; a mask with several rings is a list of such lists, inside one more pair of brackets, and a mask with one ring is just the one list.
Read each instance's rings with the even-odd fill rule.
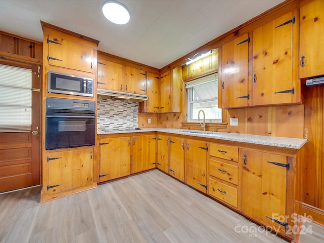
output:
[[117,1],[109,0],[102,4],[103,15],[112,23],[127,24],[130,20],[128,8]]

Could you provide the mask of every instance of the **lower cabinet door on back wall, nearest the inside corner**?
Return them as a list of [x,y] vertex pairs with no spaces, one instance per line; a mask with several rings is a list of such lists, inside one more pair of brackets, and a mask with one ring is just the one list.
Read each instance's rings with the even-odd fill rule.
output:
[[153,169],[156,166],[156,136],[133,137],[132,173]]

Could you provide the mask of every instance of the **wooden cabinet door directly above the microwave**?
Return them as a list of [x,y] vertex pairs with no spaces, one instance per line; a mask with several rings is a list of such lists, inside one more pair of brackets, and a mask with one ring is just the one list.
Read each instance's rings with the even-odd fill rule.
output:
[[59,36],[49,36],[49,64],[93,73],[93,48]]

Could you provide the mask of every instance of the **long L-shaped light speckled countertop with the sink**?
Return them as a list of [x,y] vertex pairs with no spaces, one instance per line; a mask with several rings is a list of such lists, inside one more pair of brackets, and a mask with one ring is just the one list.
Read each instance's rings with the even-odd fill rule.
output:
[[98,135],[101,134],[123,134],[123,133],[143,133],[143,132],[164,132],[179,135],[188,135],[193,137],[202,138],[214,138],[219,140],[227,140],[242,143],[260,144],[267,146],[275,146],[282,148],[300,149],[307,142],[304,138],[286,138],[286,137],[271,137],[251,134],[239,134],[239,133],[222,133],[222,132],[210,132],[199,130],[186,130],[186,129],[174,129],[174,128],[141,128],[141,130],[122,130],[122,131],[97,131]]

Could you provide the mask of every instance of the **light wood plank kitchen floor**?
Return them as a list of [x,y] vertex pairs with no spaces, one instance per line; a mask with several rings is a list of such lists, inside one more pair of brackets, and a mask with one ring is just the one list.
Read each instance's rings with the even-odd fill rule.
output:
[[[0,195],[0,242],[286,242],[157,170],[39,204],[40,188]],[[324,242],[324,230],[299,242]]]

